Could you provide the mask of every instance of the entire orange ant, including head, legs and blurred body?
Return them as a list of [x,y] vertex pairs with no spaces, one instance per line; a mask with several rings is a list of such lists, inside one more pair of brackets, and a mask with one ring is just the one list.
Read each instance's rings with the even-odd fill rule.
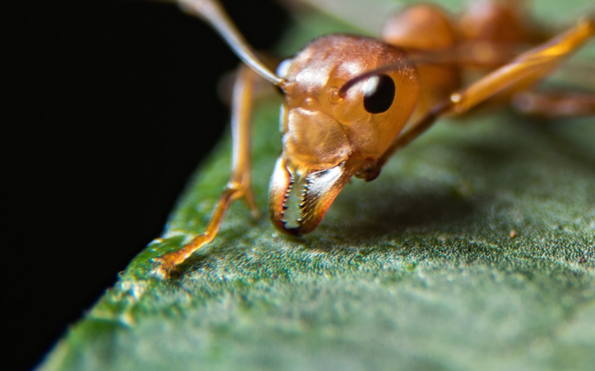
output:
[[[592,16],[550,35],[526,24],[513,1],[483,1],[457,19],[439,7],[415,5],[390,18],[381,39],[318,37],[274,72],[250,49],[216,0],[178,2],[208,21],[245,64],[233,90],[230,180],[206,231],[158,259],[156,272],[161,275],[213,240],[235,200],[244,199],[258,215],[250,185],[249,136],[258,76],[284,95],[283,151],[271,177],[269,211],[275,227],[292,235],[314,230],[351,177],[374,180],[396,150],[437,118],[486,103],[512,103],[521,112],[547,117],[595,113],[592,94],[536,88],[595,34]],[[536,46],[515,58],[502,48],[525,44]],[[437,64],[431,58],[435,55],[452,58]],[[469,70],[484,75],[462,87]]]

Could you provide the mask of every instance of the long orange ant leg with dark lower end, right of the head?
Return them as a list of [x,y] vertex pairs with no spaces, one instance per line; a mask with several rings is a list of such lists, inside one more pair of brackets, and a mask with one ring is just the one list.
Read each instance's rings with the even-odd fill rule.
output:
[[379,164],[383,165],[397,149],[406,146],[424,133],[441,116],[463,114],[503,91],[505,93],[526,91],[528,87],[534,86],[552,73],[594,34],[595,18],[582,20],[572,29],[519,55],[465,89],[453,93],[449,99],[438,103],[415,122],[406,133],[397,137],[381,156]]

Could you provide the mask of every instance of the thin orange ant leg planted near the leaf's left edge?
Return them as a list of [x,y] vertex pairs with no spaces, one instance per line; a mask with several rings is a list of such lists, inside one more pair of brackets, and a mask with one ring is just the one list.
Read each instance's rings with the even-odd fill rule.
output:
[[159,266],[155,269],[155,273],[158,275],[166,276],[176,265],[184,262],[196,250],[211,242],[221,227],[228,207],[235,200],[243,198],[252,210],[252,215],[258,217],[258,207],[256,207],[250,183],[250,115],[252,114],[255,77],[256,74],[250,68],[244,64],[241,65],[234,84],[231,108],[231,134],[233,137],[231,177],[221,193],[217,206],[215,206],[211,221],[209,221],[205,232],[195,237],[189,244],[156,259]]

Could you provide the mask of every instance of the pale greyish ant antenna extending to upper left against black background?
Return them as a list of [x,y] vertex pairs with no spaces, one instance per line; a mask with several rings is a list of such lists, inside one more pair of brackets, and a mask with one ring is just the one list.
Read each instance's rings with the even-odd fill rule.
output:
[[283,88],[285,79],[278,77],[252,51],[217,0],[177,0],[182,10],[207,21],[226,40],[227,45],[242,61],[260,76]]

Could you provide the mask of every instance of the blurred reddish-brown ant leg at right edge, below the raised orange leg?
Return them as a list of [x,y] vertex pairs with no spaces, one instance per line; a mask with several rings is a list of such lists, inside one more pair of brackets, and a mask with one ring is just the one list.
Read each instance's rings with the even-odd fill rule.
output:
[[521,92],[512,98],[519,113],[548,119],[595,115],[595,93]]

